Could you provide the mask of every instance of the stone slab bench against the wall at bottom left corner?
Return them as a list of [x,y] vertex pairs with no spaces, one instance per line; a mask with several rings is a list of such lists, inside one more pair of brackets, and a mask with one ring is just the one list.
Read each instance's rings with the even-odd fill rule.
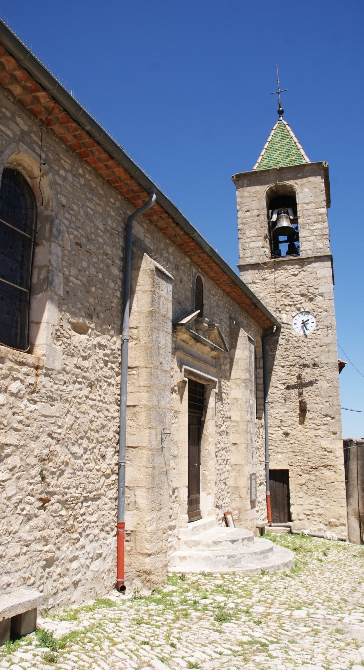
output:
[[37,627],[37,610],[44,605],[45,596],[29,588],[18,588],[0,598],[0,645],[9,640],[10,633],[27,635]]

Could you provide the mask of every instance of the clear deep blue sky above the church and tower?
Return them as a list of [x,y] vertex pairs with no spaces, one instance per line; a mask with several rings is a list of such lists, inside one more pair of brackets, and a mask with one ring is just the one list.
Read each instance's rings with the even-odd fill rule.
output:
[[[12,0],[0,9],[235,269],[231,176],[251,170],[278,118],[278,62],[286,121],[312,161],[329,163],[338,342],[364,375],[364,3]],[[348,363],[340,381],[343,407],[364,411],[364,377]],[[343,411],[343,435],[364,436],[364,413]]]

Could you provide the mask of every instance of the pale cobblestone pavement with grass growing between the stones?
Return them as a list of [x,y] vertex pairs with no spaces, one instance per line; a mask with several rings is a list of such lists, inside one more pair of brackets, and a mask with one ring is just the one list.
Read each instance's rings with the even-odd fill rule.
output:
[[151,596],[43,612],[42,631],[0,647],[0,668],[363,670],[364,547],[273,539],[295,551],[291,572],[172,575]]

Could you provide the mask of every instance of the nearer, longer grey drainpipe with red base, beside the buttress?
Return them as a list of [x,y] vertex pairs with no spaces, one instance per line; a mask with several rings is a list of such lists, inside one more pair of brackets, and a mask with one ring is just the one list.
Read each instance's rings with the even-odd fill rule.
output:
[[146,212],[156,202],[156,194],[151,192],[148,202],[135,210],[127,218],[124,256],[124,291],[123,291],[123,330],[121,334],[121,379],[120,379],[120,423],[119,423],[119,471],[117,481],[117,580],[116,588],[125,593],[125,446],[127,429],[127,358],[129,347],[129,312],[130,312],[130,273],[131,243],[133,241],[133,220]]

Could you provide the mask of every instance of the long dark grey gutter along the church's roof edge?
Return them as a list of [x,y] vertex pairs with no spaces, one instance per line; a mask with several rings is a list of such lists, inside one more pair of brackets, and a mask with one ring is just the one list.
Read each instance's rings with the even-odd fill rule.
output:
[[209,245],[209,243],[200,235],[198,230],[192,226],[190,221],[168,200],[160,189],[147,177],[147,175],[138,167],[136,163],[125,153],[125,151],[113,140],[113,138],[103,129],[103,127],[86,112],[78,101],[62,86],[53,74],[34,56],[34,54],[19,40],[13,31],[0,19],[0,44],[3,44],[7,51],[23,66],[27,72],[32,74],[36,81],[40,83],[48,93],[52,94],[54,100],[58,102],[70,116],[75,119],[82,128],[87,131],[95,141],[97,141],[107,153],[123,167],[127,173],[143,188],[147,193],[154,190],[156,193],[156,202],[164,211],[184,230],[196,244],[213,260],[214,263],[245,293],[253,305],[267,318],[274,326],[280,326],[280,322],[269,312],[259,298],[249,289],[249,287],[240,279],[235,271],[226,261]]

